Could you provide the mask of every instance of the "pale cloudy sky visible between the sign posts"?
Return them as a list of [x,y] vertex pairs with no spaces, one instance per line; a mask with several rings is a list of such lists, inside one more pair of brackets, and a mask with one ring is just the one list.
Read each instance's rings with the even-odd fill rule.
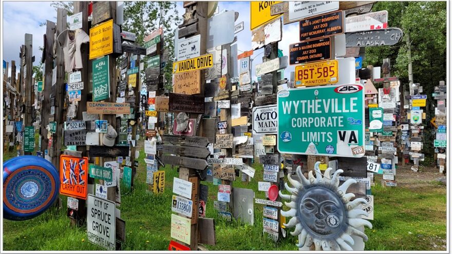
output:
[[[20,47],[24,44],[25,33],[33,35],[33,55],[36,60],[33,63],[38,65],[41,60],[42,51],[39,47],[43,46],[43,34],[46,27],[40,27],[40,24],[47,19],[56,22],[56,11],[50,6],[51,2],[3,2],[3,60],[11,63],[11,60],[19,62]],[[182,2],[177,2],[179,14],[185,11]],[[251,31],[250,31],[250,3],[249,2],[219,2],[220,11],[223,9],[239,12],[236,24],[244,22],[243,31],[237,35],[238,54],[241,51],[251,49]],[[288,55],[289,44],[298,42],[297,38],[298,23],[292,23],[283,26],[283,39],[279,42],[279,49],[283,50],[284,55]],[[262,62],[261,53],[263,49],[256,50],[251,58],[253,60],[253,72],[256,64]],[[257,56],[257,57],[256,57]],[[294,70],[293,66],[285,69],[285,77],[290,77],[290,72]],[[255,77],[252,77],[255,80]]]

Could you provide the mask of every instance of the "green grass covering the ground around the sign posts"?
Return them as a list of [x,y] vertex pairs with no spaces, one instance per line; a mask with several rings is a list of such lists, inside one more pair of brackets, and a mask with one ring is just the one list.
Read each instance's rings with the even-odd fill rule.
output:
[[[146,169],[140,153],[135,190],[125,193],[121,188],[121,218],[126,221],[123,250],[166,250],[170,242],[172,182],[178,177],[176,167],[166,166],[165,191],[155,195],[146,191]],[[4,154],[4,160],[15,156],[15,150]],[[265,198],[257,190],[262,181],[261,165],[250,183],[235,181],[233,186],[253,189],[256,198]],[[445,187],[429,183],[422,189],[384,188],[375,180],[373,229],[366,228],[369,241],[366,250],[441,250],[446,243]],[[214,218],[216,246],[209,250],[297,250],[296,238],[273,243],[262,235],[262,207],[254,204],[254,226],[219,219],[213,208],[217,186],[209,186],[206,218]],[[66,197],[62,209],[52,207],[41,216],[28,221],[4,220],[5,250],[101,250],[87,241],[86,227],[70,226],[66,216]],[[435,247],[436,246],[436,247]]]

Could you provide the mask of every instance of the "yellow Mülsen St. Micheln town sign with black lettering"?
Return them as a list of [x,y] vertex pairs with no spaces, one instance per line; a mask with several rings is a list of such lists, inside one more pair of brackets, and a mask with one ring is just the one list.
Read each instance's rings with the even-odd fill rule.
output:
[[89,59],[113,53],[113,19],[89,29]]

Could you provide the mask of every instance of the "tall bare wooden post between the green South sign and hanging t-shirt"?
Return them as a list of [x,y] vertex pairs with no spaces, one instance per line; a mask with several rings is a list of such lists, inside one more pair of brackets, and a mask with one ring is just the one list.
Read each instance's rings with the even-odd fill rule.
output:
[[46,54],[44,55],[44,98],[42,104],[42,121],[41,121],[41,149],[48,149],[49,140],[47,139],[47,125],[50,119],[50,94],[52,93],[52,67],[53,67],[53,36],[55,34],[55,23],[47,21],[46,28]]

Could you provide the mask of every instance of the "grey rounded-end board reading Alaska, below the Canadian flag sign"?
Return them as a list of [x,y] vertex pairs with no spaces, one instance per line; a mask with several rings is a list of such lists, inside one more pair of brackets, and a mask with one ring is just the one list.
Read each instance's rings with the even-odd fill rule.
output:
[[345,46],[347,48],[391,46],[399,43],[402,36],[403,32],[400,28],[345,33]]

